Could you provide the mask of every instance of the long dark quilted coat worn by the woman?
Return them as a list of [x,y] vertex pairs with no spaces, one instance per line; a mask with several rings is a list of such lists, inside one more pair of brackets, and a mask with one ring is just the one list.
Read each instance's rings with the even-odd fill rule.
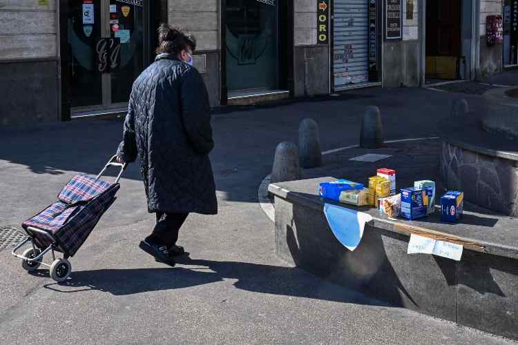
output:
[[209,160],[209,95],[200,73],[159,55],[133,83],[117,154],[140,158],[149,212],[218,213]]

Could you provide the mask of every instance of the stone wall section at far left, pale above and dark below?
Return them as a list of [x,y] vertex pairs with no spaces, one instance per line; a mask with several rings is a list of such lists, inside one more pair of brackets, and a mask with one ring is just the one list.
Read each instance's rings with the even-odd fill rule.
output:
[[59,119],[56,0],[0,0],[0,126]]

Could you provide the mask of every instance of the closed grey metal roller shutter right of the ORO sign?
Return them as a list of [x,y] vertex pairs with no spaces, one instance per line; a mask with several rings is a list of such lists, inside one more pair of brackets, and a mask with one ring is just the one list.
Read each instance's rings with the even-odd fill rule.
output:
[[334,86],[369,80],[369,1],[334,0]]

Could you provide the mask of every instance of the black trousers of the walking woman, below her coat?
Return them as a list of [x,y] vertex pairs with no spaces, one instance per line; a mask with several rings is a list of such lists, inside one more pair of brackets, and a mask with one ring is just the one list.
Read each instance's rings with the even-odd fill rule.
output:
[[146,237],[146,242],[159,246],[173,246],[178,241],[178,233],[189,213],[157,212],[156,215],[157,224],[153,233]]

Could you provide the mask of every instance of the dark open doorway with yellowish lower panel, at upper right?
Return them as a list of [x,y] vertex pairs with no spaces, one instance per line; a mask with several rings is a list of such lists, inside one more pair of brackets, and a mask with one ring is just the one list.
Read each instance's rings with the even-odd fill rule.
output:
[[463,66],[466,64],[461,40],[462,2],[426,1],[427,83],[461,79],[461,70],[464,70]]

